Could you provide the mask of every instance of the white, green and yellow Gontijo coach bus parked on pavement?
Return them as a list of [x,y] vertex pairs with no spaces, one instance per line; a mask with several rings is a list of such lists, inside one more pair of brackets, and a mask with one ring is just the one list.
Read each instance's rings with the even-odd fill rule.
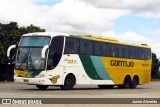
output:
[[16,48],[14,81],[38,89],[75,85],[136,88],[150,82],[151,48],[91,34],[37,32],[22,35]]

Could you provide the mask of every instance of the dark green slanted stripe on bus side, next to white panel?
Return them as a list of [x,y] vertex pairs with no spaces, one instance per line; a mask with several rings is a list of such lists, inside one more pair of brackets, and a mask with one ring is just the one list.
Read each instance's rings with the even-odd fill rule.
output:
[[93,80],[102,80],[102,78],[97,74],[94,64],[89,55],[79,55],[80,60],[87,75]]

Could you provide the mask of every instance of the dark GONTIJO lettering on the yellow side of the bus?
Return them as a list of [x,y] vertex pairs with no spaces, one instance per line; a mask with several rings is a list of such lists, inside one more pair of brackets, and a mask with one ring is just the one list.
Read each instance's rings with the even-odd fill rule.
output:
[[132,61],[118,61],[118,60],[111,60],[111,66],[122,66],[122,67],[134,67],[134,62]]

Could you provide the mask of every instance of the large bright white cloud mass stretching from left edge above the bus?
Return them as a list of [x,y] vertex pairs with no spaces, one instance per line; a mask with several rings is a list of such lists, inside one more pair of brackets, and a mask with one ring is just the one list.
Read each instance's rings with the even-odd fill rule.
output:
[[35,24],[47,31],[93,33],[113,29],[112,21],[126,14],[126,11],[98,8],[80,0],[63,0],[52,7],[35,2],[38,0],[2,0],[0,21],[17,21],[20,26]]

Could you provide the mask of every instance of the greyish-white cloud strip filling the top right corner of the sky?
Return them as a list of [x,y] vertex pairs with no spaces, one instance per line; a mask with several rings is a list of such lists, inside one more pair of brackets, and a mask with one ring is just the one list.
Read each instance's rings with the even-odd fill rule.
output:
[[128,10],[143,17],[160,17],[160,0],[83,0],[99,8]]

